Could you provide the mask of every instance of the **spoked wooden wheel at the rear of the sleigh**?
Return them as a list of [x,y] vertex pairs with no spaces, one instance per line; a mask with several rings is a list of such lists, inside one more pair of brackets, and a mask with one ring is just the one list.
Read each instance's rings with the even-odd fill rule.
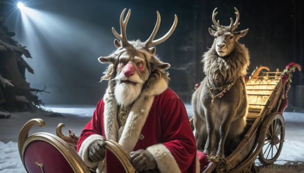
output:
[[279,157],[285,136],[285,122],[281,113],[276,112],[263,123],[268,127],[264,138],[264,145],[258,155],[258,160],[264,164],[272,164]]

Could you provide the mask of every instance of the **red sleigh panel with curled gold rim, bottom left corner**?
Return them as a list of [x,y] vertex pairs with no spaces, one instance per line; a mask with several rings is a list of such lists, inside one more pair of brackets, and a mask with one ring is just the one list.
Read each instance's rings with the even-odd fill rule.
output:
[[90,172],[86,164],[61,138],[49,133],[35,133],[28,137],[32,126],[45,126],[41,119],[27,122],[20,131],[18,150],[27,172]]

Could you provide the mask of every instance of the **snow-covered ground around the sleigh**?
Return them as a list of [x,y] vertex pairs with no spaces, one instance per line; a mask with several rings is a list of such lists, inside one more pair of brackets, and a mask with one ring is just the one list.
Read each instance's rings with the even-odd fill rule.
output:
[[[186,104],[189,116],[192,116],[192,107]],[[46,122],[46,127],[34,126],[30,134],[48,132],[55,134],[59,123],[64,123],[66,132],[72,129],[79,135],[84,126],[90,121],[95,110],[94,106],[48,106],[54,112],[62,113],[63,117],[54,117],[39,113],[12,113],[10,119],[0,119],[0,173],[26,172],[18,153],[18,135],[22,126],[31,119],[40,118]],[[304,113],[284,112],[285,142],[282,152],[274,165],[260,166],[260,172],[303,172],[304,173]],[[260,165],[256,160],[256,165]]]

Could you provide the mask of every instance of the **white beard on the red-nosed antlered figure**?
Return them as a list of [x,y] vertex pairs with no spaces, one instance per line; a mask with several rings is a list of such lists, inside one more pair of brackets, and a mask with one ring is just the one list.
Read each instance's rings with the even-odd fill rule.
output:
[[114,89],[114,95],[119,105],[128,106],[137,99],[142,89],[141,83],[136,85],[118,82]]

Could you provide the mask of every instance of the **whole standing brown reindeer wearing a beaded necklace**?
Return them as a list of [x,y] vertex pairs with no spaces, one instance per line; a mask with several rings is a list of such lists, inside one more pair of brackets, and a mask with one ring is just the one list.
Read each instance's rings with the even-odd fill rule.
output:
[[192,105],[197,147],[224,157],[224,145],[234,142],[246,125],[248,103],[242,75],[250,62],[248,49],[238,42],[248,29],[235,31],[239,11],[235,8],[235,23],[230,18],[230,26],[222,26],[215,21],[216,9],[212,14],[215,31],[209,28],[215,39],[202,60],[206,77],[193,93]]

